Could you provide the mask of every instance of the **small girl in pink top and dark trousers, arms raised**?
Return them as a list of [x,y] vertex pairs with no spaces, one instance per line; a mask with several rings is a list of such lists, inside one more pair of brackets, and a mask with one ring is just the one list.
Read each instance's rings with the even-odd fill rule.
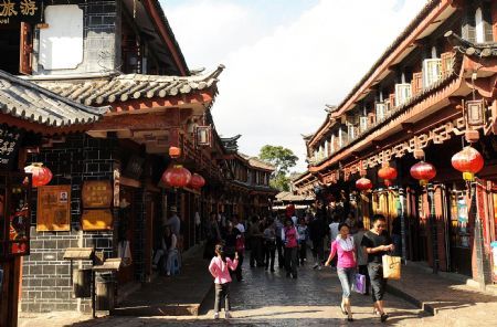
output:
[[231,318],[230,314],[230,270],[235,271],[239,265],[239,253],[235,253],[233,261],[224,255],[223,245],[215,245],[215,256],[211,260],[209,272],[214,277],[215,284],[215,302],[214,302],[214,319],[219,319],[221,310],[221,299],[224,298],[224,313],[226,318]]

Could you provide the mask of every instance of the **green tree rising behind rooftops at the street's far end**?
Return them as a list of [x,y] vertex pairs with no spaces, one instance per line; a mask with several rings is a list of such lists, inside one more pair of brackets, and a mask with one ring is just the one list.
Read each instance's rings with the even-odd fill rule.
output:
[[271,177],[269,184],[281,191],[289,190],[288,172],[297,165],[298,157],[290,149],[282,146],[265,145],[261,148],[258,158],[275,166],[275,171]]

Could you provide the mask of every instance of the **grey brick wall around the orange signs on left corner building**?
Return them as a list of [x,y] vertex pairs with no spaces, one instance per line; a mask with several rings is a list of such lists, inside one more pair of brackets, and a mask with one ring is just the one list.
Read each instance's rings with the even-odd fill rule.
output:
[[[81,231],[81,188],[85,180],[112,180],[113,165],[117,162],[117,140],[95,139],[86,135],[72,135],[65,143],[41,148],[29,160],[43,162],[53,172],[50,184],[71,184],[71,231],[36,232],[36,190],[33,189],[31,212],[31,255],[22,266],[23,312],[74,310],[70,262],[63,260],[66,247],[95,247],[105,257],[115,256],[114,233]],[[114,220],[116,225],[117,221]],[[116,228],[114,229],[116,230]],[[84,261],[83,267],[91,266]],[[77,268],[77,262],[74,263]],[[89,299],[82,302],[82,310],[91,310]]]

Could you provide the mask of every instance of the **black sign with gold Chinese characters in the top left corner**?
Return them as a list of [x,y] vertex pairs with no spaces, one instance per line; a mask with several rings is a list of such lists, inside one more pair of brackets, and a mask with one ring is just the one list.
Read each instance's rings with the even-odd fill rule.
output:
[[43,0],[0,0],[0,25],[41,23],[43,8]]

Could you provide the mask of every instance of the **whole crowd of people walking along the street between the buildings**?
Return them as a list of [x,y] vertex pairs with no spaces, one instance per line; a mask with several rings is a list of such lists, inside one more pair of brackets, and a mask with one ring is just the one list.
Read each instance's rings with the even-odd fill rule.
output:
[[[364,276],[361,293],[371,293],[373,313],[385,321],[389,316],[383,305],[382,256],[395,250],[385,228],[385,218],[380,214],[371,219],[371,230],[366,231],[363,222],[352,213],[347,217],[335,214],[330,223],[322,211],[302,217],[254,215],[246,222],[236,214],[226,218],[211,213],[204,226],[204,257],[211,260],[209,271],[215,283],[214,318],[219,318],[222,303],[225,317],[231,317],[230,283],[232,278],[243,281],[242,265],[245,252],[250,250],[251,268],[264,268],[268,273],[274,273],[275,268],[285,270],[288,278],[297,278],[297,267],[307,264],[314,270],[321,270],[324,265],[336,267],[342,288],[340,308],[349,321],[353,321],[352,285],[357,283],[357,274],[361,274]],[[308,246],[313,254],[309,261]],[[325,251],[329,251],[326,261]]]

